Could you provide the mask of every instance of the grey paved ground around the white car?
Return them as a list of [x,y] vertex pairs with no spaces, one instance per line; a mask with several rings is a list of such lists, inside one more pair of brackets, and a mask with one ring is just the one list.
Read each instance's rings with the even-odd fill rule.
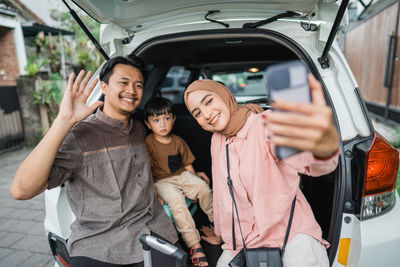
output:
[[[375,129],[390,139],[392,126],[373,120]],[[0,154],[0,267],[54,266],[44,232],[44,195],[17,201],[9,194],[11,181],[29,149]]]

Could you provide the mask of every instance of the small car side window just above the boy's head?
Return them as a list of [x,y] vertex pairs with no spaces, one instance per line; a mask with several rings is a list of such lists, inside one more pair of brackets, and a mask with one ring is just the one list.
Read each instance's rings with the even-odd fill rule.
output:
[[161,86],[161,96],[171,100],[174,104],[182,104],[189,76],[190,71],[185,67],[173,66],[170,68]]

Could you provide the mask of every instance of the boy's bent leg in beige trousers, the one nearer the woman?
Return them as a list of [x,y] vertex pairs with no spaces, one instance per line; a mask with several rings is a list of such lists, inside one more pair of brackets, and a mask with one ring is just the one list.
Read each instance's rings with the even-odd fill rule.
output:
[[185,196],[192,200],[199,199],[201,209],[214,222],[212,192],[210,186],[200,177],[185,171],[180,175],[180,183]]

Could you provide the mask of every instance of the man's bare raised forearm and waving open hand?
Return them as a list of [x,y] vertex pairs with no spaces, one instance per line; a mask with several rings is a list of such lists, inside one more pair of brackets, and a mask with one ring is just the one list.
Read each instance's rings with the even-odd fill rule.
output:
[[10,188],[15,199],[33,198],[47,188],[51,167],[68,132],[75,123],[85,119],[102,104],[97,101],[91,106],[86,105],[97,79],[85,91],[91,72],[83,79],[84,73],[81,71],[75,82],[75,75],[70,75],[57,118],[45,137],[19,166]]

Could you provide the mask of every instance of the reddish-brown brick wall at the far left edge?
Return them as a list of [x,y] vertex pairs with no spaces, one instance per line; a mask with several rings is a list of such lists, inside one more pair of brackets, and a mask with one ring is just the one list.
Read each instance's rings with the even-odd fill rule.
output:
[[13,31],[0,27],[0,87],[17,85],[19,66]]

